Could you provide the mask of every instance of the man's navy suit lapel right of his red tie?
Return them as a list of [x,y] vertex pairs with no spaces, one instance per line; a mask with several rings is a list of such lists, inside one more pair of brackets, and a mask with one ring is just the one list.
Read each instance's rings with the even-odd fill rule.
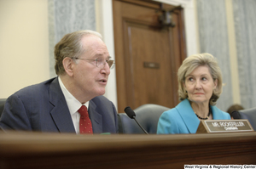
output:
[[93,100],[89,102],[88,113],[90,115],[93,133],[102,133],[102,115],[98,112],[97,106]]

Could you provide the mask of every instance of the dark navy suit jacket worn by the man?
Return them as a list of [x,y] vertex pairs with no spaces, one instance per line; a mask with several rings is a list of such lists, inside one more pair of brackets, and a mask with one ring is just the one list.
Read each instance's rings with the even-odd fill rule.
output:
[[[118,132],[117,112],[104,96],[90,100],[89,115],[94,133]],[[7,99],[0,127],[5,130],[75,132],[58,78],[25,87]]]

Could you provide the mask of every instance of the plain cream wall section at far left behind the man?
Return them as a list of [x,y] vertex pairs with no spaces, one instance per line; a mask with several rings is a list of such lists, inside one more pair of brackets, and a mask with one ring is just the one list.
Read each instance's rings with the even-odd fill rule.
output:
[[49,79],[47,0],[0,0],[0,98]]

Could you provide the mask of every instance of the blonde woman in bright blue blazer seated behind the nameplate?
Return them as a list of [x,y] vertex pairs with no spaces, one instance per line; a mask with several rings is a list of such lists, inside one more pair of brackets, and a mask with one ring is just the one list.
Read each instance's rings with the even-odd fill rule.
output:
[[181,102],[165,111],[158,134],[195,133],[201,120],[230,120],[215,104],[222,93],[222,75],[211,54],[195,54],[183,60],[177,71]]

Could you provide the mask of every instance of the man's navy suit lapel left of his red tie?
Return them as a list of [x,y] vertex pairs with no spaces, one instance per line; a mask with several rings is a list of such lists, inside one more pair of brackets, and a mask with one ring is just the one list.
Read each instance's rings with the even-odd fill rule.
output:
[[67,107],[66,99],[61,91],[58,78],[50,84],[49,102],[54,105],[50,115],[60,132],[75,132],[73,121]]

